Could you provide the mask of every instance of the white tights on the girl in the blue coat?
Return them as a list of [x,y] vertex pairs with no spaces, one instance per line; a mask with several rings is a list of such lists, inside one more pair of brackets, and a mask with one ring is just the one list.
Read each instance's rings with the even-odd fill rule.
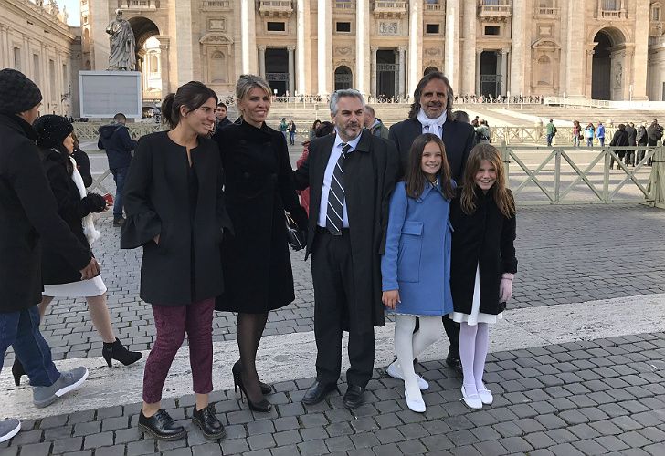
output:
[[413,360],[443,335],[440,316],[420,316],[420,327],[416,328],[416,316],[395,316],[395,353],[404,374],[404,387],[412,398],[420,395]]

